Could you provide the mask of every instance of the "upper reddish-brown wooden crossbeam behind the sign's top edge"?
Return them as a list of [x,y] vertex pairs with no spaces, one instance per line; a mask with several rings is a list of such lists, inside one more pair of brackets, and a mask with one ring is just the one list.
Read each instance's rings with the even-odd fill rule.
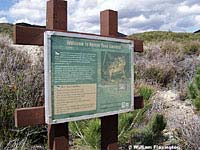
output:
[[[52,30],[52,29],[46,29],[45,27],[28,27],[28,26],[15,25],[13,32],[14,44],[43,46],[44,45],[43,36],[45,31],[60,31],[65,33],[77,33],[77,34],[91,35],[91,36],[114,37],[114,36],[97,35],[97,34],[89,34],[81,32],[70,32],[58,29]],[[124,39],[124,38],[118,38],[118,39]],[[142,40],[134,40],[134,52],[143,52]]]

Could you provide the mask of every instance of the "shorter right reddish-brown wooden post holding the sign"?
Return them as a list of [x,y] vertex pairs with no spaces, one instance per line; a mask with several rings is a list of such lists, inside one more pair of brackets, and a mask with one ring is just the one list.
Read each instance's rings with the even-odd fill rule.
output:
[[[105,10],[100,13],[101,35],[117,37],[118,14],[117,11]],[[101,118],[101,149],[118,149],[118,115]]]

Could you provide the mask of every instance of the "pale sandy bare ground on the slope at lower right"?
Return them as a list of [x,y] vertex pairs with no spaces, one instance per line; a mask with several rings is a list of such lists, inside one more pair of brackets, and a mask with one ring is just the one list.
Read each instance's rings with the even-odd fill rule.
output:
[[188,149],[200,147],[200,115],[190,100],[181,101],[176,91],[157,91],[152,97],[152,112],[162,113],[167,120],[163,131],[168,135],[168,144],[177,144]]

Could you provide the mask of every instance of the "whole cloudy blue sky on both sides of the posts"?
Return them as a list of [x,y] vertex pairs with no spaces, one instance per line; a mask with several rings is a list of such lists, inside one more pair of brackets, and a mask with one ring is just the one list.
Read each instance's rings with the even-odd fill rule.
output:
[[[119,14],[119,32],[194,32],[200,29],[200,0],[68,0],[68,29],[99,33],[99,12]],[[46,0],[0,0],[0,23],[45,25]]]

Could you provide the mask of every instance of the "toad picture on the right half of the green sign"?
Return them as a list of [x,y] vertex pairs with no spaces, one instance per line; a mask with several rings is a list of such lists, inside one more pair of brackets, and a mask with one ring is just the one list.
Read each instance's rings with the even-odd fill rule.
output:
[[130,62],[128,53],[101,52],[102,84],[130,81]]

